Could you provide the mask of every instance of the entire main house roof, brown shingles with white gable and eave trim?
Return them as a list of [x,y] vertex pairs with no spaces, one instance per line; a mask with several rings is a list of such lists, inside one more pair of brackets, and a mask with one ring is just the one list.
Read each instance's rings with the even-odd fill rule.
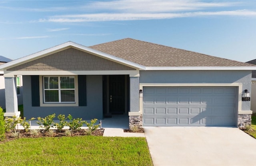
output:
[[68,41],[61,45],[2,64],[0,70],[24,64],[68,48],[78,49],[140,70],[256,70],[256,66],[253,64],[130,38],[91,47]]

